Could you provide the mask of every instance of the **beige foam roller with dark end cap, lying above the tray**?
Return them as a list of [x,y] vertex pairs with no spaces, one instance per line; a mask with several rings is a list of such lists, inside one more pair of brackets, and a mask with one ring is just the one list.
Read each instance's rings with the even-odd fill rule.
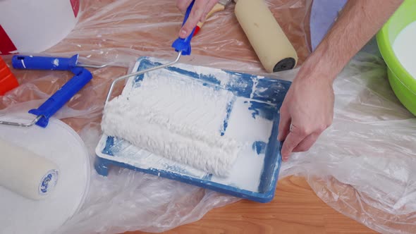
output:
[[298,63],[295,48],[264,0],[235,2],[235,16],[267,72],[294,68]]

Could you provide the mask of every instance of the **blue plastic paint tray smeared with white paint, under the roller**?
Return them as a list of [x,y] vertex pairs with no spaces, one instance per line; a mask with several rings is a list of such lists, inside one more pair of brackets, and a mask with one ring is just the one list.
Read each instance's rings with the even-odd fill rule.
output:
[[[141,57],[133,71],[164,62],[157,58]],[[223,131],[245,142],[245,147],[238,154],[230,175],[226,178],[214,176],[107,135],[102,135],[95,149],[97,157],[94,167],[97,172],[107,176],[111,166],[118,166],[255,202],[270,202],[274,198],[281,166],[281,142],[277,140],[279,109],[290,82],[181,63],[157,72],[172,79],[193,79],[202,85],[232,92],[233,102],[227,108],[227,119],[224,121],[226,128]],[[123,93],[140,89],[138,84],[152,73],[130,78]]]

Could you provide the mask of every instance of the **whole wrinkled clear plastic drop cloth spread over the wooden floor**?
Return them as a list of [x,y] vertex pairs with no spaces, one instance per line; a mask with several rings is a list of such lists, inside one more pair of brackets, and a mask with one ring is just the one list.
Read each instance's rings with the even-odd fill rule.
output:
[[[71,35],[45,53],[80,54],[81,61],[124,67],[92,70],[94,79],[56,114],[80,134],[94,161],[99,123],[111,80],[133,68],[139,56],[174,58],[183,16],[173,0],[82,1],[82,16]],[[311,1],[268,1],[300,56],[307,42]],[[371,51],[371,50],[370,50]],[[183,63],[264,73],[233,16],[217,13],[192,39]],[[11,56],[6,56],[10,63]],[[275,74],[293,80],[297,69]],[[69,78],[57,71],[13,70],[20,87],[0,97],[0,115],[42,104]],[[115,94],[121,92],[118,87]],[[416,121],[394,96],[380,56],[362,51],[334,83],[334,124],[309,152],[294,154],[281,168],[285,176],[305,176],[324,202],[383,233],[412,233],[416,225]],[[87,199],[59,233],[161,232],[197,221],[207,211],[238,199],[192,185],[122,168],[92,178]],[[276,194],[279,196],[279,194]]]

